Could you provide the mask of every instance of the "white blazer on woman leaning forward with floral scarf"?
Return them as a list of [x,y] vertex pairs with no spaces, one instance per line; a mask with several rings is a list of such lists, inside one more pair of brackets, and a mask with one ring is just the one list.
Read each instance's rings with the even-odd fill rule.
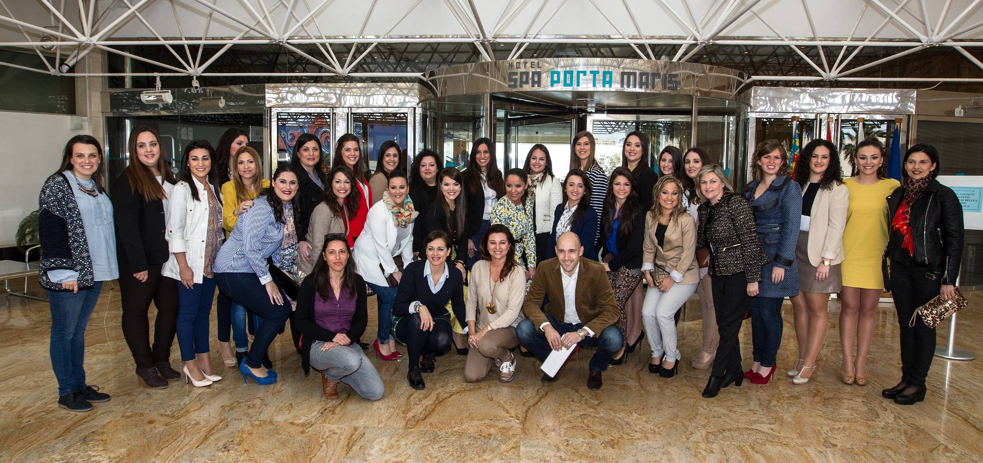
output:
[[[396,242],[396,219],[389,212],[385,203],[379,201],[369,208],[366,226],[355,241],[352,256],[362,278],[368,283],[378,286],[388,286],[385,275],[396,271],[393,256],[402,256],[403,264],[413,261],[413,223],[407,227],[408,232],[402,243]],[[385,273],[382,273],[382,268]]]

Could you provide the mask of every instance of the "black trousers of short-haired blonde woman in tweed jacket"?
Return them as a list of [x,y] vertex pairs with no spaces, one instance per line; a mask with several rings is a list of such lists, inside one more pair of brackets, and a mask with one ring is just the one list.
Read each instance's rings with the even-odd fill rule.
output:
[[744,321],[751,297],[747,295],[744,272],[732,275],[713,275],[714,303],[717,309],[717,330],[721,342],[714,359],[713,376],[741,372],[740,325]]

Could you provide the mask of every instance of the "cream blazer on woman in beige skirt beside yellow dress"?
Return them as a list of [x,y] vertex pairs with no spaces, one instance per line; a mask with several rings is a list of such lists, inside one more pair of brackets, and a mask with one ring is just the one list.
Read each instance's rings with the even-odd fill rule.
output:
[[[805,189],[802,191],[804,194]],[[849,197],[850,192],[843,184],[816,192],[809,220],[808,250],[812,266],[819,266],[824,259],[831,260],[833,265],[843,261],[843,229]]]

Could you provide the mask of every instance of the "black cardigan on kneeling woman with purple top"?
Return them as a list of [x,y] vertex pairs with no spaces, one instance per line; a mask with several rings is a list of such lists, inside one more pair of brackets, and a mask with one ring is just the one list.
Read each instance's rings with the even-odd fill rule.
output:
[[[301,349],[301,368],[304,369],[304,375],[311,373],[311,345],[314,341],[329,342],[334,340],[334,335],[337,334],[330,329],[322,328],[314,317],[317,293],[314,277],[304,278],[300,294],[297,296],[297,309],[290,316],[290,325],[301,333],[297,347]],[[352,315],[351,327],[345,334],[352,342],[357,341],[365,332],[368,321],[366,281],[361,276],[355,275],[355,314]]]

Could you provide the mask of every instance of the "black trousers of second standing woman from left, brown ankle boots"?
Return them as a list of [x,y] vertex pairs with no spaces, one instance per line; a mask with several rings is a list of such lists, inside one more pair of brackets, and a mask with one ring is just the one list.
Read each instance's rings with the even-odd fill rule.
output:
[[[150,265],[146,282],[141,283],[133,271],[120,265],[120,299],[123,306],[123,337],[130,346],[137,368],[147,369],[170,362],[171,344],[178,321],[178,281],[160,275],[163,264]],[[150,302],[157,308],[153,322],[153,346],[150,346]]]

